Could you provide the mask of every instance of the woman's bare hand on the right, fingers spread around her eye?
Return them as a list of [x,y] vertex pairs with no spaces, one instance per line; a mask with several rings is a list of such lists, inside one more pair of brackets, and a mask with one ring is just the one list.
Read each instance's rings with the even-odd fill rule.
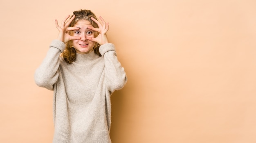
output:
[[88,37],[88,40],[94,41],[94,42],[99,43],[100,45],[103,45],[105,43],[108,43],[108,37],[107,37],[108,23],[106,23],[101,16],[99,17],[99,19],[101,20],[102,24],[98,20],[95,20],[92,17],[92,20],[96,24],[98,24],[99,28],[94,28],[94,27],[91,27],[91,26],[88,27],[91,30],[98,31],[99,35],[97,37],[95,37],[95,38]]

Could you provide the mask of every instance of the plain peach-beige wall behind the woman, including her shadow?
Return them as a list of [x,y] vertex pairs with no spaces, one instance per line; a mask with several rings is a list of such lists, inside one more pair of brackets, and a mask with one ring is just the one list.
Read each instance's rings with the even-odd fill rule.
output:
[[54,19],[79,9],[110,23],[128,75],[113,143],[256,142],[255,0],[1,0],[1,143],[52,142],[52,91],[34,71]]

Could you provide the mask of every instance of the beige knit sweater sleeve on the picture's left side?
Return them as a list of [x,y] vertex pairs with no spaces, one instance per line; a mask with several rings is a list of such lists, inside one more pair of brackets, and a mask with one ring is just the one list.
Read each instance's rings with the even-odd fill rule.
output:
[[56,83],[60,65],[59,56],[65,49],[65,44],[59,40],[53,40],[41,65],[36,69],[34,80],[39,87],[53,90]]

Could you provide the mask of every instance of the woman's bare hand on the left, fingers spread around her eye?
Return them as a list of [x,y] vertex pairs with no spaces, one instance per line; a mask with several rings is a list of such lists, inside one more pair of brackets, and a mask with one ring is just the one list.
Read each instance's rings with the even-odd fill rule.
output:
[[68,27],[70,25],[70,23],[72,22],[72,20],[74,20],[75,15],[73,15],[70,18],[70,20],[67,20],[69,17],[70,17],[70,15],[67,15],[67,17],[65,17],[65,19],[61,23],[61,26],[58,26],[58,21],[55,20],[55,26],[59,31],[57,39],[60,41],[63,41],[64,43],[67,43],[67,41],[70,41],[70,40],[81,39],[81,37],[79,37],[79,36],[69,35],[69,31],[79,29],[78,27]]

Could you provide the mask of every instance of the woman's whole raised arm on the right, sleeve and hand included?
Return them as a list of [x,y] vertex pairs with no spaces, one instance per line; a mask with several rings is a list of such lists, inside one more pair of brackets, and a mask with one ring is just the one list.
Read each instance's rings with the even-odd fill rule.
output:
[[88,27],[89,29],[98,31],[99,35],[95,38],[89,37],[88,40],[95,41],[101,45],[99,52],[105,61],[105,84],[110,92],[114,92],[115,90],[123,88],[126,84],[126,73],[124,67],[122,67],[121,63],[117,60],[115,46],[112,43],[108,43],[108,22],[105,22],[102,17],[99,17],[99,19],[101,22],[92,17],[92,20],[98,24],[99,28]]

